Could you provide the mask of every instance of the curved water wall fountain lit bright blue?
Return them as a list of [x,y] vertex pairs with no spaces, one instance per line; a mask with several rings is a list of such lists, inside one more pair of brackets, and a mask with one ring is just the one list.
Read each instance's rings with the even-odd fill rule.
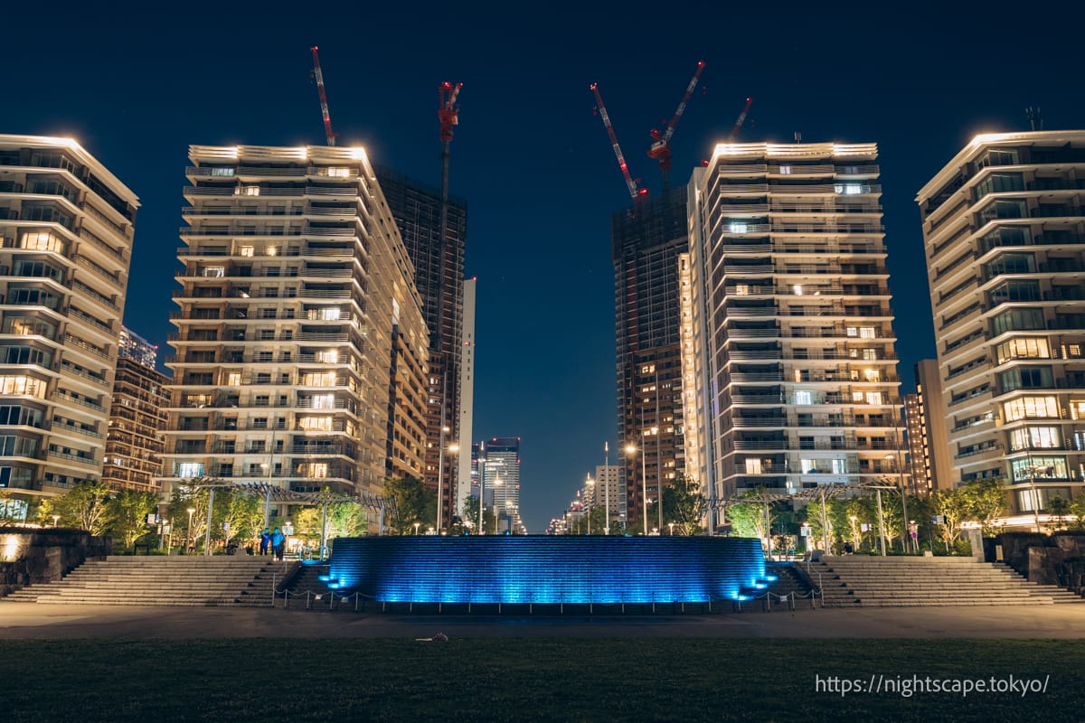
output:
[[385,603],[707,603],[766,582],[746,538],[340,538],[330,586]]

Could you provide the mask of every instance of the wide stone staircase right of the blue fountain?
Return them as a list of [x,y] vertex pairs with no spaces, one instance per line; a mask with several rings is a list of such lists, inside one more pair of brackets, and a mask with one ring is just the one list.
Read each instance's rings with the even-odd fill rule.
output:
[[1051,605],[1085,598],[969,557],[822,557],[806,568],[826,607]]

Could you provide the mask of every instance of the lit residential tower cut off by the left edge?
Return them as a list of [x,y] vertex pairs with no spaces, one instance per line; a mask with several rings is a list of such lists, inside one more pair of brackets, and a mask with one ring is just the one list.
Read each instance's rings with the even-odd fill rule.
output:
[[101,478],[138,206],[75,141],[0,135],[0,488]]

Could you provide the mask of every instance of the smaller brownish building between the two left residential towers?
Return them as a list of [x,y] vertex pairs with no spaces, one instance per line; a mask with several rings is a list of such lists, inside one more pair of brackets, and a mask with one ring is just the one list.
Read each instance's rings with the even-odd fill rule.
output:
[[126,326],[120,327],[119,349],[102,481],[115,490],[157,492],[169,377],[154,367],[157,348]]

